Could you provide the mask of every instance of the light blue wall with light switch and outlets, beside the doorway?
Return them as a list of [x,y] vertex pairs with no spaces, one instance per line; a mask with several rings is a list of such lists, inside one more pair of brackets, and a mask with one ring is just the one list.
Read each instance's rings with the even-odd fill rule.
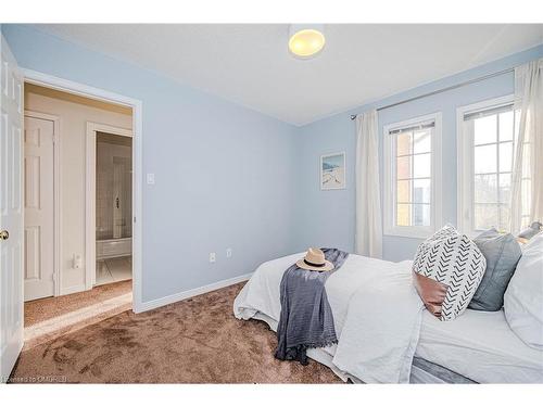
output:
[[23,67],[143,102],[143,173],[156,179],[143,183],[143,301],[291,252],[295,127],[31,27],[2,33]]

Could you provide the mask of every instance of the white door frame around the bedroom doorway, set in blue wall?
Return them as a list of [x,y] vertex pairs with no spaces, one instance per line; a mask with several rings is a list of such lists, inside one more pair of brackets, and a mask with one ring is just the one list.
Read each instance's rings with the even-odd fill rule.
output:
[[[143,131],[142,102],[138,99],[110,92],[109,90],[90,87],[64,78],[59,78],[41,72],[21,68],[24,80],[29,84],[45,86],[64,92],[104,102],[113,102],[132,110],[132,309],[135,313],[142,307],[142,171],[143,171]],[[96,237],[94,237],[96,239]]]

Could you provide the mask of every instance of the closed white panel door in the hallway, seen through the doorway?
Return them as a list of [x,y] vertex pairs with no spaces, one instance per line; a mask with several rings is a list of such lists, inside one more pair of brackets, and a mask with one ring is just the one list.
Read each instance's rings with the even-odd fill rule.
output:
[[25,116],[25,301],[54,295],[54,122]]

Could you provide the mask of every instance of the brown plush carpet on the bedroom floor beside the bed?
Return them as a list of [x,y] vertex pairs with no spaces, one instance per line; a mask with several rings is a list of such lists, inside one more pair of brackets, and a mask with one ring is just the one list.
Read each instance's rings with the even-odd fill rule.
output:
[[13,382],[338,383],[330,369],[274,358],[276,335],[240,321],[242,284],[148,313],[124,311],[21,354]]

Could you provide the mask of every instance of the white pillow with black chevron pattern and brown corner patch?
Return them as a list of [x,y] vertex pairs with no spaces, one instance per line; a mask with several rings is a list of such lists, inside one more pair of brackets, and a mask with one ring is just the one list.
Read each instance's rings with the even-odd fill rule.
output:
[[467,308],[485,268],[477,244],[446,225],[418,246],[414,283],[428,310],[451,321]]

